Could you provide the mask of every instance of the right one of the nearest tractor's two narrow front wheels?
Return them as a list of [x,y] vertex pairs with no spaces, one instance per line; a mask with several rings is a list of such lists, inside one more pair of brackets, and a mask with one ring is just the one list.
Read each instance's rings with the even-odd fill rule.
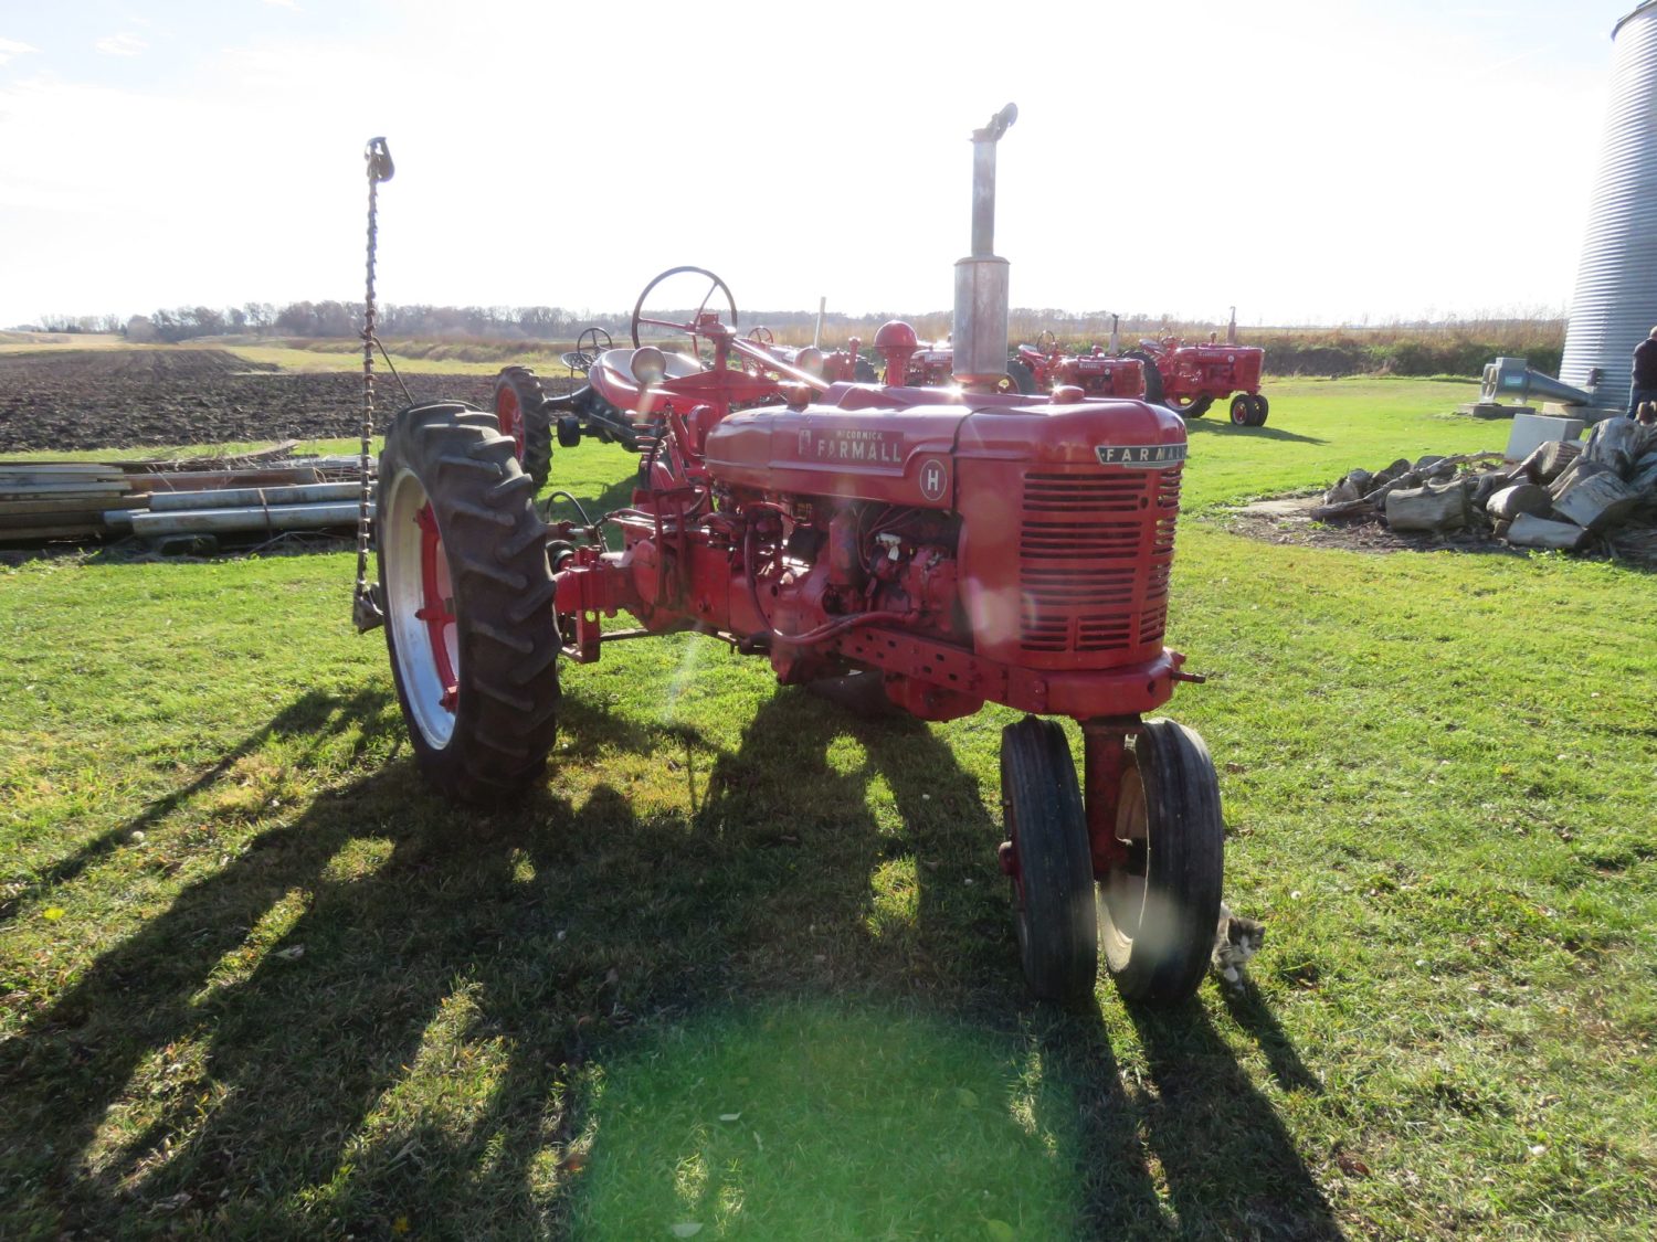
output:
[[1203,982],[1225,874],[1220,777],[1203,739],[1147,720],[1117,797],[1128,861],[1099,884],[1105,962],[1125,1000],[1171,1005]]

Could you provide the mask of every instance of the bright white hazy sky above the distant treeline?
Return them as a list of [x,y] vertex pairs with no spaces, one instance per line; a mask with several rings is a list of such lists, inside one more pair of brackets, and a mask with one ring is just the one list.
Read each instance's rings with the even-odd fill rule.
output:
[[1016,306],[1563,310],[1635,0],[0,0],[0,325],[361,300],[943,310],[1004,103]]

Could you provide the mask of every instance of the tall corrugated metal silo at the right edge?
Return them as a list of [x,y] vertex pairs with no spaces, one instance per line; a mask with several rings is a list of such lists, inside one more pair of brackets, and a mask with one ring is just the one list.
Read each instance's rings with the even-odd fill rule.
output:
[[1559,378],[1626,406],[1634,346],[1657,325],[1657,0],[1611,40],[1611,108]]

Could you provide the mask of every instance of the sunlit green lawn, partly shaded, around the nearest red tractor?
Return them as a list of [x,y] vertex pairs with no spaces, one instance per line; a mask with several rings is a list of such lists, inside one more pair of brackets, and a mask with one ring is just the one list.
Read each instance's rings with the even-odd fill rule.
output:
[[1647,1237],[1652,578],[1236,538],[1506,436],[1269,391],[1195,424],[1170,618],[1268,941],[1171,1013],[1022,992],[1009,712],[618,644],[484,818],[423,792],[351,556],[0,570],[0,1235]]

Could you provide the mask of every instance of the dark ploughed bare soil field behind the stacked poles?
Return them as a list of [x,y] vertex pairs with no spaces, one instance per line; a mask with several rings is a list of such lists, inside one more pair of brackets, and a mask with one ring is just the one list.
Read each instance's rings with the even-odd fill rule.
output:
[[[403,373],[403,383],[414,401],[479,407],[494,391],[492,376]],[[398,381],[376,368],[379,429],[404,404]],[[361,427],[360,374],[283,373],[225,349],[0,354],[0,452],[331,439]]]

